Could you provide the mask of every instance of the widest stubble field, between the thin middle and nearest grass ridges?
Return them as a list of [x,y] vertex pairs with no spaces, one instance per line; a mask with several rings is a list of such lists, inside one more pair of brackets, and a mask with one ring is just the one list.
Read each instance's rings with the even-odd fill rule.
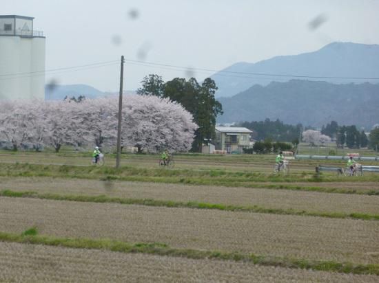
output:
[[378,221],[0,198],[0,230],[379,263]]

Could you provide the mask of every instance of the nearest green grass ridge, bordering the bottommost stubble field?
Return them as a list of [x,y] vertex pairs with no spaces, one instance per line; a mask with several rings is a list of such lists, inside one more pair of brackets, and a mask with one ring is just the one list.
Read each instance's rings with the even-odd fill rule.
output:
[[252,262],[265,266],[292,269],[313,269],[338,273],[379,275],[379,264],[354,264],[351,262],[334,262],[325,260],[306,260],[278,256],[262,256],[254,253],[225,251],[205,251],[196,249],[175,249],[162,243],[130,243],[110,239],[57,238],[40,235],[19,235],[0,231],[0,241],[19,242],[32,245],[48,245],[76,249],[103,249],[122,253],[147,253],[158,256],[174,256],[191,259],[216,259]]

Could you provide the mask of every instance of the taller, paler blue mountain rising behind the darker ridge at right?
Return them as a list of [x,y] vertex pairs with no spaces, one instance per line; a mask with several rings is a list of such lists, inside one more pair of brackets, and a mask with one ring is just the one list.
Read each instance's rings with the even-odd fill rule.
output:
[[[258,63],[236,63],[212,76],[218,86],[216,97],[230,97],[245,91],[254,84],[265,86],[272,81],[285,82],[291,77],[259,76],[258,73],[321,76],[379,78],[379,45],[358,43],[330,43],[316,52],[293,56],[276,56]],[[248,73],[256,73],[248,74]],[[249,77],[249,78],[246,78]],[[305,78],[309,80],[309,78]],[[313,80],[313,79],[311,79]],[[336,83],[373,82],[379,80],[314,79]]]

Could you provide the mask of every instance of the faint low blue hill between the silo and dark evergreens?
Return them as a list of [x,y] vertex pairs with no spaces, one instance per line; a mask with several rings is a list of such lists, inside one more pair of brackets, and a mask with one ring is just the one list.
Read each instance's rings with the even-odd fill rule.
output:
[[[135,91],[124,91],[124,95],[134,94]],[[118,92],[103,92],[87,84],[68,84],[68,85],[45,85],[45,100],[63,100],[84,95],[85,98],[99,98],[107,95],[118,95]]]

